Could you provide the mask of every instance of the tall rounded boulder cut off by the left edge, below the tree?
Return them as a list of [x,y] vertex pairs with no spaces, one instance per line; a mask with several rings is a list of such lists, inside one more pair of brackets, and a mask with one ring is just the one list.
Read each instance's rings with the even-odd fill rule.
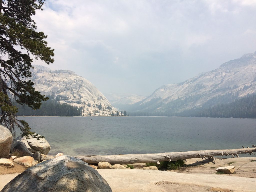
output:
[[8,158],[12,147],[13,135],[3,125],[0,125],[0,158]]

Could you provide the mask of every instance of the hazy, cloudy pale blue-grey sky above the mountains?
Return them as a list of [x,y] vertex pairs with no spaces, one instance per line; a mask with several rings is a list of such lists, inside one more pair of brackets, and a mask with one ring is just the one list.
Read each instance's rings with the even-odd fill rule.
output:
[[48,67],[103,94],[149,96],[256,51],[256,0],[46,0],[43,9],[33,19],[55,49]]

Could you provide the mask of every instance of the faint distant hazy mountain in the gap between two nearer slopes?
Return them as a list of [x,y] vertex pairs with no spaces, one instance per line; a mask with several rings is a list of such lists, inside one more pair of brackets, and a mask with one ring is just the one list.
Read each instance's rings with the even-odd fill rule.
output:
[[109,99],[111,104],[118,109],[126,109],[129,105],[140,102],[145,99],[145,96],[135,95],[135,94],[115,94],[107,93],[105,94],[106,98]]

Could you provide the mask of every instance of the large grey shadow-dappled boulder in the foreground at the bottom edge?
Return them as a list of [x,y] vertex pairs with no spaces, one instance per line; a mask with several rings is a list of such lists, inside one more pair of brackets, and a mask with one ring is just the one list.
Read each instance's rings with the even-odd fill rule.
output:
[[1,192],[110,192],[103,177],[80,159],[61,156],[28,168]]

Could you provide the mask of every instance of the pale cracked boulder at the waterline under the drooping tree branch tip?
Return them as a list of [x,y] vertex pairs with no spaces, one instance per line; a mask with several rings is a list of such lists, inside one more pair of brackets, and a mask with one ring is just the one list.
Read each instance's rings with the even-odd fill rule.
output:
[[47,155],[51,149],[51,146],[45,138],[37,140],[37,138],[34,138],[33,136],[29,136],[29,138],[26,138],[25,136],[18,136],[13,144],[13,148],[20,143],[25,145],[31,153],[40,151],[41,154]]

